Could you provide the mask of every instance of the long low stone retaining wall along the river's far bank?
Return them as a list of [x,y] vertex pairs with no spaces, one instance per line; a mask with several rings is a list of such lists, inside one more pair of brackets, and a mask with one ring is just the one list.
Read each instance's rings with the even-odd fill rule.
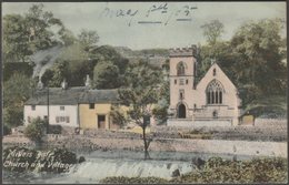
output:
[[[31,142],[27,138],[12,141],[11,137],[4,137],[3,144],[10,142],[23,144]],[[52,136],[44,140],[48,147],[68,147],[79,150],[129,150],[142,151],[143,141],[141,138],[102,138],[84,135]],[[287,142],[251,142],[251,141],[226,141],[226,140],[186,140],[186,138],[153,138],[149,147],[150,151],[168,152],[197,152],[216,154],[236,154],[253,156],[281,156],[287,157]]]

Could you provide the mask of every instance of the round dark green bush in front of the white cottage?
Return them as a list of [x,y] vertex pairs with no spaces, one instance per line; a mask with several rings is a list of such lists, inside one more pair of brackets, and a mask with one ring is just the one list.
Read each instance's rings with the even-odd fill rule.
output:
[[41,142],[42,136],[46,133],[46,126],[48,122],[40,117],[33,119],[24,130],[24,135],[33,142]]

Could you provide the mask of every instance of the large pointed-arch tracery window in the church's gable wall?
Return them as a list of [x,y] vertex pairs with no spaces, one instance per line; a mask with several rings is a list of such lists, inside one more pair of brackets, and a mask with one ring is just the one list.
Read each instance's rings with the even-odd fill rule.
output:
[[207,104],[222,104],[222,84],[217,80],[212,80],[206,91]]

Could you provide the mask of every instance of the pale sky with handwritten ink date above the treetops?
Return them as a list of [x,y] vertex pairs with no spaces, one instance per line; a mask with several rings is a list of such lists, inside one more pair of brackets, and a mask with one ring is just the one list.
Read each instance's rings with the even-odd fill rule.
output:
[[[24,13],[36,2],[3,2],[2,14]],[[286,2],[42,2],[44,10],[76,35],[96,30],[99,44],[150,48],[183,48],[205,43],[202,24],[219,20],[222,40],[229,40],[246,21],[281,18]],[[282,34],[286,35],[287,28]]]

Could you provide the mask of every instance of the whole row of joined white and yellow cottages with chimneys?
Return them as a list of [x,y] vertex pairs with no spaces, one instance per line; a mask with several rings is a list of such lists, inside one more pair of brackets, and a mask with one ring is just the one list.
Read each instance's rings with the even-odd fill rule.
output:
[[117,90],[91,90],[90,85],[39,89],[24,104],[24,124],[32,119],[48,119],[50,125],[80,129],[119,129],[110,116],[112,104],[118,103]]

